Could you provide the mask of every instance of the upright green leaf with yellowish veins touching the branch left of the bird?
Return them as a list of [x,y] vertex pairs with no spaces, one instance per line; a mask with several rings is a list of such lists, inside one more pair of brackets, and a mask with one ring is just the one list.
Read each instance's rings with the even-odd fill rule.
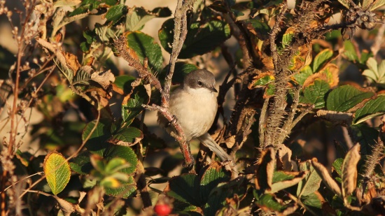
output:
[[139,85],[134,89],[127,103],[122,105],[123,121],[131,124],[134,118],[144,110],[141,105],[146,103],[148,103],[148,94],[143,85]]

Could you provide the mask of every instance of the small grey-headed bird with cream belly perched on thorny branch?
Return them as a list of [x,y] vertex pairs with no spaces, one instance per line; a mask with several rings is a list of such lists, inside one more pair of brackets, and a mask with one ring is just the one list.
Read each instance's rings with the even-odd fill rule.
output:
[[[207,133],[218,108],[214,92],[218,91],[215,89],[213,73],[204,69],[191,71],[184,78],[182,85],[170,94],[169,111],[181,124],[186,141],[190,143],[193,138],[197,138],[222,161],[230,161],[230,155]],[[158,122],[164,127],[169,123],[159,113]],[[172,130],[167,127],[167,131]]]

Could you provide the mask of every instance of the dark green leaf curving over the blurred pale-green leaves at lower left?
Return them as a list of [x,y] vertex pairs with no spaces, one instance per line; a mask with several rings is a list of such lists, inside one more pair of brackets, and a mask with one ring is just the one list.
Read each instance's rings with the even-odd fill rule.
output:
[[131,147],[123,145],[109,145],[109,148],[104,152],[104,158],[112,160],[116,157],[120,157],[130,164],[130,167],[123,168],[120,172],[132,175],[137,170],[137,154]]

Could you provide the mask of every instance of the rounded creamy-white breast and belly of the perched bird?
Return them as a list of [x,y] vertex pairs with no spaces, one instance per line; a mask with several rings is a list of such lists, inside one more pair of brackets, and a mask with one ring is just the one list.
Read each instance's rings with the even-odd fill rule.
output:
[[214,92],[190,87],[176,89],[170,96],[169,105],[170,112],[181,124],[188,141],[210,129],[218,106]]

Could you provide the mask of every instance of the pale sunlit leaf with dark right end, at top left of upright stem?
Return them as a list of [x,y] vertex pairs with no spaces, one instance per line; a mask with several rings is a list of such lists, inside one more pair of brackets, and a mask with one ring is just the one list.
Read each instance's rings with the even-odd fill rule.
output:
[[169,8],[155,8],[153,11],[148,11],[142,7],[137,8],[134,6],[128,10],[125,27],[127,31],[141,30],[144,27],[144,24],[153,18],[168,17],[171,14]]

